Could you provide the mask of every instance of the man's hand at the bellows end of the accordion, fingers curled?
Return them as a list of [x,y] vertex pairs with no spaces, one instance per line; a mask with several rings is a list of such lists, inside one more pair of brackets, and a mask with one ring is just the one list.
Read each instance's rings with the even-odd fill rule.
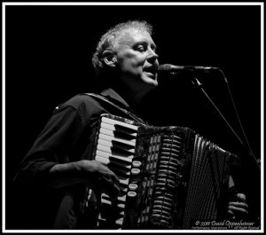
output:
[[246,218],[248,215],[247,208],[246,195],[237,193],[235,198],[228,203],[227,213],[231,220],[239,220]]

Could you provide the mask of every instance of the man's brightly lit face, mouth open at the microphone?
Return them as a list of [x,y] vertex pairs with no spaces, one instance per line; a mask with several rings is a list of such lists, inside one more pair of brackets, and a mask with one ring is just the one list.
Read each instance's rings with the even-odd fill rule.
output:
[[131,90],[152,90],[158,85],[158,55],[151,35],[146,31],[126,30],[115,47],[121,82]]

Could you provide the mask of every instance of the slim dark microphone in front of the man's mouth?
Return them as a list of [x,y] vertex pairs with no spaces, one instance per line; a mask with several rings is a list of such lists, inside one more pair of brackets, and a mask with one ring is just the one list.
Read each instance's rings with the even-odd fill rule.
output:
[[183,71],[201,71],[210,72],[211,70],[219,69],[218,67],[197,67],[197,66],[175,66],[170,64],[160,65],[158,72],[169,72],[171,74],[178,74]]

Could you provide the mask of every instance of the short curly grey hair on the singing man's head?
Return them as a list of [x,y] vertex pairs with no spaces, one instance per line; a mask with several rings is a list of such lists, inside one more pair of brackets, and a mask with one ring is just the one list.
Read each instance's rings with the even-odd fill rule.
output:
[[95,68],[97,74],[100,74],[100,71],[103,70],[104,68],[103,57],[102,57],[103,52],[107,48],[112,50],[116,43],[117,37],[121,35],[122,31],[127,29],[137,29],[140,31],[146,31],[150,35],[153,34],[153,26],[147,23],[145,20],[129,20],[117,24],[114,27],[111,27],[106,32],[106,34],[101,36],[96,51],[91,59],[92,65]]

